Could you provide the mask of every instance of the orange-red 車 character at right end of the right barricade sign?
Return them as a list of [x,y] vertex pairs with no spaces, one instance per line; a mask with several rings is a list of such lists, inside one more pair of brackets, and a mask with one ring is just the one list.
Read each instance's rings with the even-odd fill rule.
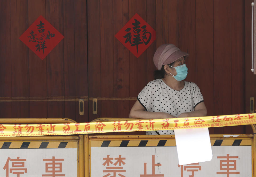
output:
[[223,172],[217,172],[216,174],[226,174],[227,177],[229,177],[230,174],[240,174],[240,172],[236,171],[230,171],[230,170],[237,170],[237,160],[230,160],[230,159],[237,159],[238,156],[218,156],[218,159],[226,159],[226,160],[220,160],[219,161],[219,169],[225,170]]

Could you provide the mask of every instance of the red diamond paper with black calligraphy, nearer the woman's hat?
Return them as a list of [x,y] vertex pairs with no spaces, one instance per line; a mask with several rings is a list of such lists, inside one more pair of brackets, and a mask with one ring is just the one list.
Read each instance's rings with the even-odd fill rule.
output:
[[137,58],[155,41],[155,30],[135,14],[115,35]]

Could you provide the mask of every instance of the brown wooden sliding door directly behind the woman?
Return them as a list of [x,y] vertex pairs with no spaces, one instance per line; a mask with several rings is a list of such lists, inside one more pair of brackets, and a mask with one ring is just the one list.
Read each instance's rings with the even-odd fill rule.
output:
[[[201,89],[207,115],[245,113],[244,3],[88,0],[89,120],[128,117],[138,93],[153,80],[153,55],[165,43],[190,53],[186,80]],[[114,37],[135,13],[156,30],[156,40],[139,58]],[[98,114],[92,114],[93,98]],[[210,128],[212,134],[244,132],[245,126]]]

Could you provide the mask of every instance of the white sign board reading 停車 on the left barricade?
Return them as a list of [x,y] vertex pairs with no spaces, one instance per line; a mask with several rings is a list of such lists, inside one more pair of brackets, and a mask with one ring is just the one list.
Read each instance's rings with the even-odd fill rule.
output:
[[1,177],[77,176],[77,148],[0,149]]

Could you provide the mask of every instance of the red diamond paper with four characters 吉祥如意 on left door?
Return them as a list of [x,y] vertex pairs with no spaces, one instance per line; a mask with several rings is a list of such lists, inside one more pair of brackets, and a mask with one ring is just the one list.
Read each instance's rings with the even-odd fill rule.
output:
[[19,37],[42,60],[63,38],[42,15]]

